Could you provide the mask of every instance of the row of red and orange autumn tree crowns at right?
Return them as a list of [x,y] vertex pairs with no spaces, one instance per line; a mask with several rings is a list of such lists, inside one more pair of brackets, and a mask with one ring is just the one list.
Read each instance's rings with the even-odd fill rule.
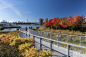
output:
[[75,15],[73,18],[71,16],[69,17],[64,17],[60,20],[59,17],[50,19],[49,22],[44,23],[44,26],[50,26],[50,27],[58,27],[59,25],[62,26],[63,28],[67,28],[69,26],[73,25],[81,25],[84,20],[84,16],[79,16]]

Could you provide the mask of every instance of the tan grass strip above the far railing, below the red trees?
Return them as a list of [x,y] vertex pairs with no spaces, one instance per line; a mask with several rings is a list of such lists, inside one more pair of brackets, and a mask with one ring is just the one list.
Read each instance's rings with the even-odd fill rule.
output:
[[69,31],[69,30],[61,30],[61,29],[55,30],[55,29],[49,29],[46,27],[40,27],[38,30],[44,31],[44,32],[60,33],[60,34],[86,36],[86,32],[80,32],[80,31]]

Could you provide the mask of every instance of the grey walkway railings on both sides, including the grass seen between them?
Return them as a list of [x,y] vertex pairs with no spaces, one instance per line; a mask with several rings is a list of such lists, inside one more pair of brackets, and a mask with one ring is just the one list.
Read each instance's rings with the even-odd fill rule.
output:
[[[53,42],[56,42],[56,45],[59,46],[65,46],[67,48],[67,57],[70,56],[70,50],[79,51],[80,54],[84,54],[86,57],[86,36],[77,36],[77,35],[68,35],[68,34],[59,34],[59,33],[50,33],[50,32],[43,32],[43,31],[35,31],[30,30],[25,31],[24,29],[19,30],[19,37],[25,38],[33,36],[33,43],[35,43],[35,37],[38,37],[40,39],[40,50],[42,50],[42,40],[45,40],[47,42],[50,41],[50,50],[52,51],[52,44]],[[81,55],[82,56],[82,55]],[[83,56],[82,56],[83,57]]]

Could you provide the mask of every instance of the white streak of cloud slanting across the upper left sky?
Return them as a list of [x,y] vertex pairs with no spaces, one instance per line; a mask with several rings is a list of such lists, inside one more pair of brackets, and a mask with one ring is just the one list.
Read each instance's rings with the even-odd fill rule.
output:
[[4,7],[0,8],[0,9],[10,8],[10,9],[13,10],[18,16],[22,17],[21,13],[20,13],[15,7],[13,7],[14,4],[8,3],[7,1],[3,1],[3,0],[0,0],[0,2],[2,2],[2,4],[4,4]]

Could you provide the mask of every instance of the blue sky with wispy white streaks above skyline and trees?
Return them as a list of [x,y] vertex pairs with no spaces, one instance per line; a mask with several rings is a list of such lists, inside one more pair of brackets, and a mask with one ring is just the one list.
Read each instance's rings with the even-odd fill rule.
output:
[[0,21],[37,22],[39,18],[86,16],[86,0],[0,0]]

